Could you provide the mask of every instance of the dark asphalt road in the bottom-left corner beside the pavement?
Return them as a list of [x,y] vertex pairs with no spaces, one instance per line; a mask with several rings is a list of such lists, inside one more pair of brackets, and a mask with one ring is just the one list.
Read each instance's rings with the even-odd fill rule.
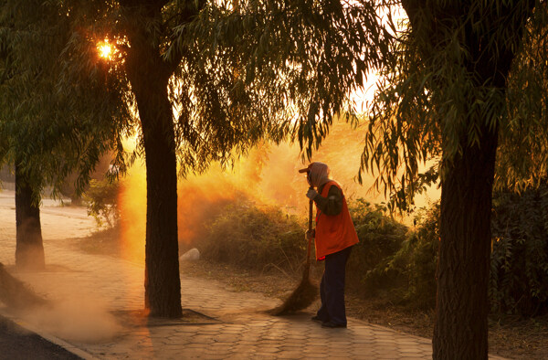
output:
[[76,360],[80,357],[0,316],[0,359]]

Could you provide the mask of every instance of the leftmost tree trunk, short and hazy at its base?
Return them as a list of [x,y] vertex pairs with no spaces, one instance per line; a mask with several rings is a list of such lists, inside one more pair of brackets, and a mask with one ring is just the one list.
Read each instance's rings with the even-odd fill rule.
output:
[[40,207],[33,201],[33,189],[16,164],[16,267],[44,270],[44,244]]

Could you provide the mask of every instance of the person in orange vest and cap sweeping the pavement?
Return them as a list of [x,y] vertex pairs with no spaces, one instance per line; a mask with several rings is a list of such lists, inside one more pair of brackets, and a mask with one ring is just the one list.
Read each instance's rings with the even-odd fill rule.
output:
[[358,235],[348,212],[341,185],[329,178],[327,164],[314,162],[300,173],[307,173],[311,188],[306,196],[316,205],[316,228],[307,231],[307,238],[314,239],[316,259],[325,261],[320,284],[320,310],[311,320],[322,327],[346,327],[344,306],[344,277],[346,262]]

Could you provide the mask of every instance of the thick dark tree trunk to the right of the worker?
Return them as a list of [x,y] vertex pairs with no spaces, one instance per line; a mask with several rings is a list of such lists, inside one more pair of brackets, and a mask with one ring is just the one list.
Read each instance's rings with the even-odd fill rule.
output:
[[464,147],[442,184],[435,359],[487,359],[490,216],[497,132]]

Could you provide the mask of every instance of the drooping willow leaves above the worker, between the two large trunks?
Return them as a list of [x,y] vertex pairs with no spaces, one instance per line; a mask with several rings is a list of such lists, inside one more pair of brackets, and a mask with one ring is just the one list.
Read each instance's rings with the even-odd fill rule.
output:
[[167,53],[184,53],[176,74],[191,83],[178,99],[195,102],[187,114],[193,130],[211,134],[192,136],[195,148],[202,141],[209,148],[221,135],[224,142],[244,135],[246,144],[264,132],[298,139],[310,158],[333,115],[353,113],[350,92],[387,50],[389,36],[379,24],[370,2],[207,2],[191,23],[175,28]]

